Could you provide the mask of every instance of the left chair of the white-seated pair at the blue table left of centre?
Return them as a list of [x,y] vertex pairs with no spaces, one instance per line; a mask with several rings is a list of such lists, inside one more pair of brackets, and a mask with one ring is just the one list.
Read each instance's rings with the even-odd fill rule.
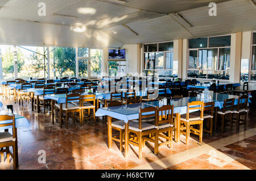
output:
[[[72,104],[72,102],[79,102],[78,105],[76,104]],[[80,94],[66,94],[66,103],[65,103],[65,107],[63,107],[63,112],[65,112],[65,121],[66,121],[66,128],[68,129],[68,118],[70,113],[72,113],[72,117],[73,117],[73,124],[75,125],[75,113],[79,113],[79,122],[81,125],[81,110],[80,110],[80,105],[81,104],[81,98],[80,98]],[[55,104],[55,113],[59,112],[60,109],[60,104]],[[63,115],[60,115],[63,116]],[[57,120],[57,116],[56,116],[56,120]],[[60,125],[62,125],[62,123],[60,123]]]

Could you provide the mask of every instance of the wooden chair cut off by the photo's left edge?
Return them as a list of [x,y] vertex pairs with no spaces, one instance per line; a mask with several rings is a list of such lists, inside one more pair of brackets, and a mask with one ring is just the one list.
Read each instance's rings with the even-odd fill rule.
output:
[[[11,122],[9,122],[12,120]],[[1,123],[5,121],[5,123]],[[8,121],[6,123],[6,121]],[[13,127],[13,134],[9,132],[1,132],[0,133],[0,154],[1,154],[1,162],[3,163],[3,153],[6,152],[7,162],[10,163],[10,155],[13,157],[13,168],[16,169],[16,158],[18,158],[18,151],[16,148],[16,130],[15,130],[15,116],[9,115],[0,115],[0,127]],[[9,150],[9,147],[13,146],[13,153]],[[3,149],[5,148],[5,149]]]

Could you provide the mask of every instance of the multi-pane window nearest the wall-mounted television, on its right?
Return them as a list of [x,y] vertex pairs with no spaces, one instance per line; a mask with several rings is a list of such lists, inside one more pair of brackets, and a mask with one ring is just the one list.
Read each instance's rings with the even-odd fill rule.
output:
[[177,74],[177,61],[173,60],[174,42],[144,44],[144,70],[146,76],[172,77]]

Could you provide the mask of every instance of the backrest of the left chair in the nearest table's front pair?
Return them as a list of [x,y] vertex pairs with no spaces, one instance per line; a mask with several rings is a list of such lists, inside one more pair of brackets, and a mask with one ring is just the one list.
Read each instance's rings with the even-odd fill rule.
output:
[[[152,113],[154,112],[154,113]],[[145,107],[144,109],[139,109],[139,129],[142,129],[142,119],[147,117],[155,118],[155,125],[157,124],[158,120],[158,108],[157,107]]]

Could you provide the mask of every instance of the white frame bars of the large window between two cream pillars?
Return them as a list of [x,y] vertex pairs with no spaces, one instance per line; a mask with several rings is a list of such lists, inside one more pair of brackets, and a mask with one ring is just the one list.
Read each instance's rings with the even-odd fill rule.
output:
[[[187,70],[186,70],[186,78],[187,79],[199,79],[199,80],[205,80],[205,81],[211,81],[211,80],[217,80],[217,81],[226,81],[229,82],[230,79],[211,79],[208,78],[208,72],[209,71],[218,71],[218,73],[223,72],[223,71],[228,71],[230,74],[230,70],[220,70],[220,49],[221,48],[230,48],[231,50],[231,43],[229,47],[209,47],[209,38],[210,37],[220,37],[220,36],[231,36],[231,34],[226,34],[226,35],[217,35],[217,36],[208,36],[208,37],[202,37],[202,38],[207,38],[207,47],[206,48],[189,48],[189,39],[187,39]],[[208,70],[208,69],[199,69],[199,50],[203,49],[218,49],[218,55],[217,55],[217,70]],[[190,50],[197,50],[197,69],[189,69],[189,51]],[[231,60],[230,60],[231,61]],[[207,78],[193,78],[193,77],[188,77],[188,71],[206,71]]]

